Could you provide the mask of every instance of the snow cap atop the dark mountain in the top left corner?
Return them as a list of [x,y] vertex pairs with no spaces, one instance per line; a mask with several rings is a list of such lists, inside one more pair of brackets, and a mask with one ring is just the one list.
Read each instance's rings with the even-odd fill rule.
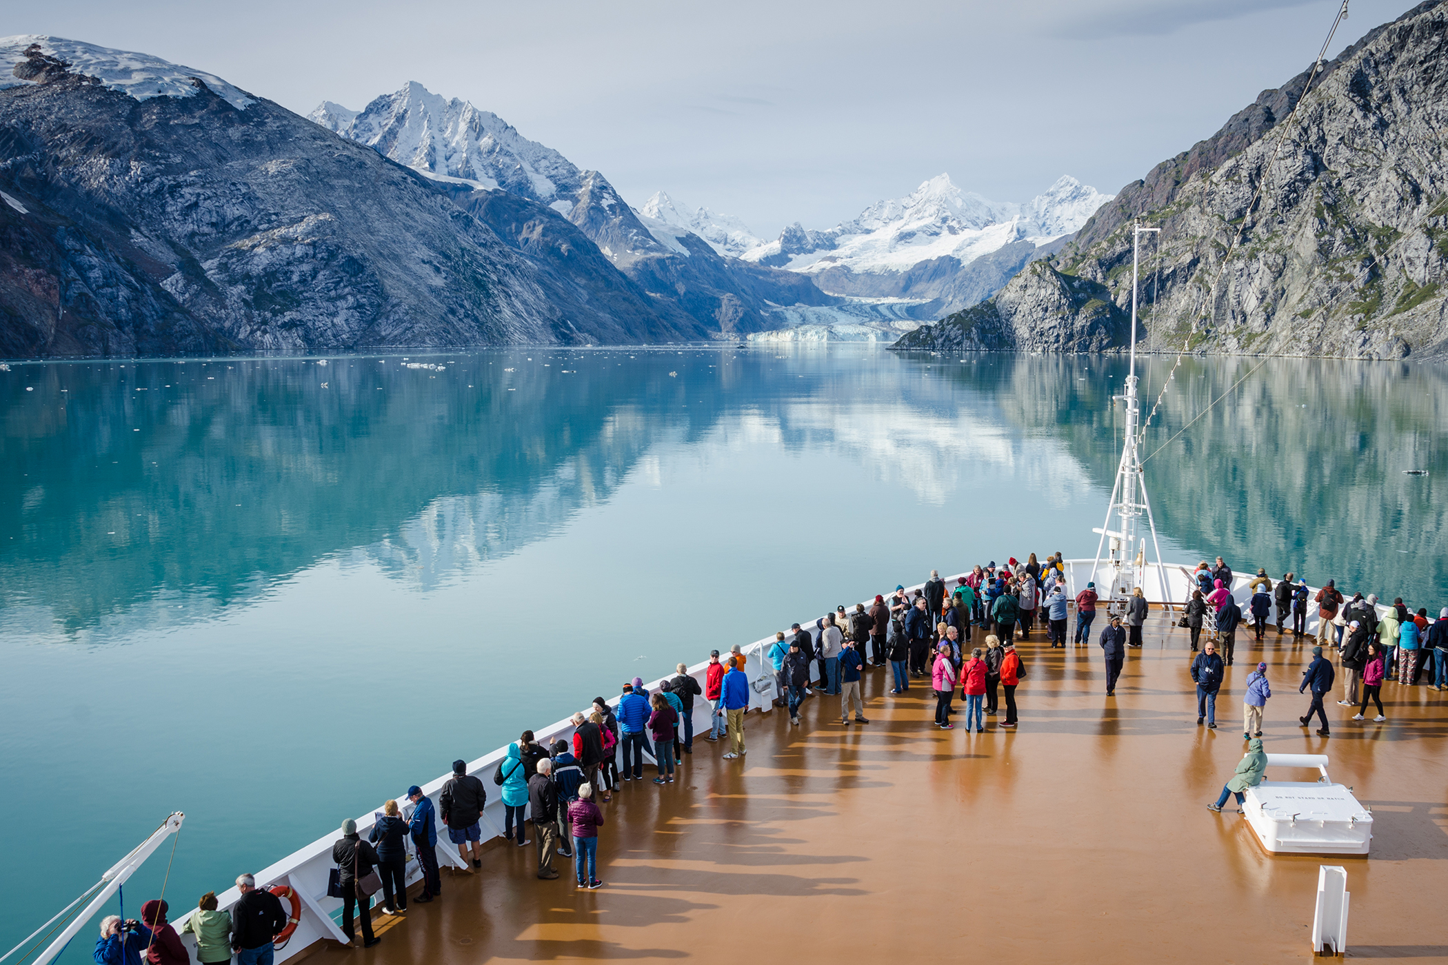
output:
[[[19,69],[17,69],[19,68]],[[83,41],[43,33],[0,38],[0,88],[46,84],[65,74],[91,77],[103,87],[136,100],[194,97],[197,81],[237,110],[256,100],[220,77],[194,67],[171,64],[151,54],[113,51]]]

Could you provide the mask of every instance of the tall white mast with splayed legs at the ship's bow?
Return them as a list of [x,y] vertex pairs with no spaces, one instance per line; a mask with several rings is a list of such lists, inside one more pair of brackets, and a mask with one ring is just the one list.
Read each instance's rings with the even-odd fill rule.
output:
[[[1141,421],[1141,407],[1137,401],[1137,268],[1141,260],[1141,236],[1160,231],[1156,227],[1141,227],[1132,223],[1132,252],[1131,252],[1131,367],[1127,373],[1125,395],[1112,399],[1125,399],[1127,404],[1127,434],[1121,447],[1121,462],[1116,466],[1116,483],[1111,490],[1111,505],[1106,508],[1106,521],[1099,530],[1100,540],[1096,543],[1096,560],[1092,563],[1093,580],[1100,580],[1102,550],[1106,550],[1106,564],[1109,586],[1105,593],[1096,587],[1098,595],[1106,603],[1106,609],[1124,605],[1131,592],[1141,586],[1145,574],[1147,540],[1138,537],[1141,515],[1147,516],[1147,527],[1151,530],[1151,547],[1157,554],[1157,582],[1161,590],[1160,602],[1167,599],[1166,574],[1161,570],[1161,547],[1157,544],[1157,524],[1151,518],[1151,499],[1147,498],[1147,485],[1141,477],[1141,454],[1137,449],[1137,427]],[[1112,516],[1116,516],[1116,528],[1112,530]],[[1109,545],[1106,540],[1111,540]],[[1140,548],[1138,548],[1140,538]]]

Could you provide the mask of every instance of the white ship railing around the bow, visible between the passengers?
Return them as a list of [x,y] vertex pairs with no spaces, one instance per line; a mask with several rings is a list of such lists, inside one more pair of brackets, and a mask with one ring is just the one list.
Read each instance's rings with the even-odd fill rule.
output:
[[[1102,561],[1096,567],[1095,573],[1092,571],[1092,563],[1093,563],[1092,560],[1066,560],[1066,579],[1067,579],[1069,596],[1073,600],[1076,598],[1076,593],[1079,593],[1082,589],[1086,587],[1086,582],[1087,580],[1095,580],[1096,584],[1102,586],[1102,587],[1111,586],[1111,577],[1114,574],[1111,561],[1109,560]],[[1190,570],[1190,567],[1177,566],[1177,564],[1164,564],[1161,567],[1161,570],[1163,570],[1163,573],[1158,576],[1158,573],[1157,573],[1157,564],[1150,563],[1150,564],[1145,566],[1144,573],[1142,573],[1142,592],[1147,595],[1148,602],[1151,602],[1153,605],[1160,605],[1160,603],[1166,602],[1171,608],[1174,608],[1177,612],[1180,612],[1180,609],[1184,605],[1184,602],[1190,598],[1192,590],[1196,589],[1196,582],[1192,580],[1192,576],[1190,576],[1192,570]],[[953,589],[956,586],[957,579],[961,577],[961,576],[967,576],[967,573],[957,573],[957,574],[944,577],[946,579],[947,592],[950,592],[950,589]],[[1232,577],[1232,596],[1238,600],[1238,603],[1247,603],[1247,600],[1251,598],[1251,590],[1247,589],[1247,584],[1253,579],[1255,579],[1255,577],[1253,577],[1253,576],[1244,576],[1244,574],[1234,574],[1234,577]],[[1169,596],[1170,596],[1169,600],[1158,600],[1158,599],[1156,599],[1156,596],[1160,596],[1160,589],[1158,587],[1161,586],[1163,582],[1167,586],[1167,592],[1169,592]],[[1276,584],[1276,580],[1274,580],[1274,584]],[[906,590],[908,592],[918,590],[922,586],[924,586],[924,583],[917,583],[914,586],[906,587]],[[1157,587],[1157,589],[1154,590],[1154,587]],[[891,592],[893,592],[893,590],[891,590]],[[1312,593],[1316,595],[1316,587],[1312,587]],[[1312,598],[1309,596],[1309,600],[1310,599]],[[875,598],[872,596],[869,600],[864,602],[866,608],[869,608],[870,605],[873,605],[873,602],[875,602]],[[1378,608],[1378,609],[1386,612],[1386,608]],[[1245,606],[1244,606],[1244,611],[1245,611]],[[1318,616],[1316,616],[1316,612],[1315,612],[1316,606],[1310,606],[1309,605],[1309,611],[1312,611],[1312,613],[1308,618],[1308,625],[1309,625],[1308,629],[1309,629],[1309,632],[1315,632],[1316,625],[1318,625]],[[804,626],[804,628],[807,628],[807,629],[809,629],[812,632],[814,631],[814,622],[817,619],[818,619],[818,616],[809,616],[807,619],[801,619],[799,624],[801,624],[801,626]],[[1099,629],[1100,629],[1099,626],[1093,626],[1093,631],[1098,632],[1098,634],[1099,634]],[[765,693],[760,693],[759,689],[754,687],[754,681],[759,680],[759,677],[760,677],[762,671],[765,670],[765,667],[770,666],[765,660],[765,652],[769,650],[770,645],[773,645],[773,642],[775,642],[775,637],[773,637],[773,634],[770,634],[769,637],[766,637],[763,639],[757,639],[757,641],[754,641],[752,644],[746,644],[746,645],[740,647],[740,650],[743,651],[743,654],[746,657],[744,673],[749,677],[749,683],[750,683],[750,692],[749,692],[750,693],[750,705],[749,706],[750,706],[750,709],[756,709],[756,710],[760,710],[763,713],[767,713],[767,712],[770,712],[773,709],[775,693],[772,690],[766,690]],[[723,657],[720,657],[720,660],[721,661],[727,660],[728,658],[728,644],[721,645],[720,647],[720,652],[723,654]],[[699,681],[699,689],[701,690],[704,687],[704,676],[705,676],[707,667],[708,667],[708,661],[707,660],[701,661],[701,663],[696,663],[696,664],[692,664],[689,667],[689,676],[692,676],[695,680]],[[815,670],[815,667],[817,667],[817,663],[811,661],[811,673]],[[773,674],[772,666],[770,666],[769,674],[770,676]],[[669,674],[669,677],[673,677],[673,676],[675,674]],[[653,692],[653,690],[656,690],[659,687],[659,683],[663,681],[665,679],[666,677],[659,677],[656,680],[646,681],[646,686],[649,687],[650,692]],[[608,703],[611,706],[617,706],[618,705],[618,697],[611,697]],[[586,712],[588,707],[586,707],[586,705],[579,705],[578,709]],[[702,696],[701,697],[695,697],[695,700],[694,700],[694,732],[696,735],[701,735],[701,734],[704,734],[704,732],[708,731],[708,728],[710,728],[710,710],[711,710],[711,707],[710,707],[708,700],[705,700]],[[565,739],[565,741],[572,742],[573,723],[572,723],[571,719],[565,718],[563,720],[557,720],[557,722],[555,722],[555,723],[552,723],[552,725],[549,725],[546,728],[534,728],[533,732],[534,732],[534,736],[537,738],[537,741],[542,742],[543,745],[552,745],[555,741],[559,741],[559,739]],[[498,788],[492,783],[492,771],[498,765],[500,761],[502,761],[504,758],[507,758],[507,755],[508,755],[508,747],[504,745],[501,748],[489,751],[488,754],[484,754],[482,757],[479,757],[475,761],[472,761],[472,762],[468,764],[468,774],[473,774],[479,780],[482,780],[484,786],[488,790],[488,804],[484,809],[482,819],[481,819],[484,839],[501,838],[502,836],[502,794],[500,793],[501,788]],[[652,761],[652,758],[650,758],[650,761]],[[423,788],[423,793],[433,800],[433,806],[439,809],[439,820],[437,820],[437,862],[442,867],[453,865],[453,867],[459,867],[460,868],[460,867],[465,867],[465,865],[463,865],[462,859],[459,859],[459,856],[458,856],[456,846],[447,839],[447,829],[443,826],[442,819],[440,819],[439,797],[442,794],[443,784],[446,784],[450,777],[452,777],[452,774],[443,774],[443,775],[440,775],[440,777],[429,781],[427,784],[423,784],[421,788]],[[387,794],[387,793],[379,794],[378,796],[378,802],[385,800],[388,796],[390,794]],[[397,796],[397,799],[401,803],[403,788],[397,788],[395,796]],[[359,816],[356,819],[356,822],[358,822],[358,833],[365,839],[366,835],[368,835],[368,832],[372,829],[372,825],[375,823],[374,812],[369,810],[366,815]],[[314,942],[319,942],[321,939],[330,938],[330,939],[336,939],[339,942],[345,942],[346,940],[346,936],[342,933],[342,929],[332,919],[332,914],[336,913],[336,911],[339,911],[342,909],[342,900],[340,898],[329,898],[327,897],[327,877],[329,877],[329,872],[332,871],[332,868],[334,867],[333,861],[332,861],[332,846],[339,839],[340,839],[340,832],[330,830],[324,836],[313,841],[310,845],[306,845],[304,848],[300,848],[300,849],[294,851],[292,854],[287,855],[281,861],[278,861],[278,862],[275,862],[275,864],[272,864],[272,865],[269,865],[266,868],[262,868],[261,871],[255,872],[255,878],[256,878],[258,887],[272,887],[272,885],[278,885],[278,884],[290,884],[297,891],[297,894],[298,894],[298,897],[301,898],[301,903],[303,903],[301,920],[297,924],[297,930],[295,930],[295,933],[292,933],[292,936],[287,942],[285,948],[282,948],[281,951],[278,951],[275,953],[275,961],[277,962],[284,962],[284,961],[287,961],[287,959],[290,959],[290,958],[292,958],[295,955],[300,955],[310,945],[313,945]],[[408,848],[411,848],[411,842],[408,842]],[[245,868],[237,868],[237,874],[240,874],[242,871],[245,871]],[[408,858],[407,858],[407,883],[408,883],[408,885],[411,885],[411,884],[414,884],[414,883],[417,883],[420,880],[421,880],[421,871],[420,871],[420,868],[417,865],[417,858],[416,858],[416,855],[408,854]],[[222,910],[230,910],[232,906],[236,904],[236,900],[239,897],[240,897],[240,893],[235,887],[227,888],[226,891],[222,891],[222,893],[217,894],[219,907]],[[185,914],[181,914],[175,922],[172,922],[172,924],[175,926],[177,932],[181,930],[181,924],[190,917],[190,914],[191,914],[190,911],[185,913]],[[185,936],[182,936],[182,943],[187,946],[187,951],[191,953],[191,961],[197,962],[198,959],[195,958],[195,940],[194,940],[194,938],[191,935],[185,935]]]

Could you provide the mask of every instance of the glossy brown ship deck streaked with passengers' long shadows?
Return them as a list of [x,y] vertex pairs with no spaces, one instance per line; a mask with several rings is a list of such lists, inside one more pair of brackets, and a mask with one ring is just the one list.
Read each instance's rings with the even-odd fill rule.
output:
[[[1318,865],[1332,864],[1348,872],[1350,956],[1448,962],[1448,694],[1386,684],[1383,725],[1329,703],[1319,738],[1297,726],[1312,641],[1270,629],[1238,645],[1208,731],[1187,631],[1153,612],[1144,641],[1108,699],[1095,642],[1050,650],[1032,634],[1014,732],[988,719],[967,735],[959,716],[940,731],[928,681],[891,696],[888,670],[866,674],[869,725],[841,726],[818,696],[799,728],[752,713],[743,760],[696,739],[675,784],[618,788],[602,888],[576,891],[563,858],[540,881],[533,845],[494,841],[481,872],[445,870],[437,901],[379,919],[381,945],[323,942],[311,958],[1296,961],[1310,958]],[[1268,855],[1235,803],[1206,810],[1242,755],[1258,660],[1274,690],[1266,748],[1331,757],[1374,812],[1370,856]]]

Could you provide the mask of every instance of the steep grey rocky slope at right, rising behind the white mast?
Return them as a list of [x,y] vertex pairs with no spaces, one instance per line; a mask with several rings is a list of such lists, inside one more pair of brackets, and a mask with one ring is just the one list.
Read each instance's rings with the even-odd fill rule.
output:
[[[1142,311],[1148,350],[1444,353],[1444,61],[1448,6],[1429,0],[1325,64],[1310,91],[1310,68],[1264,91],[1213,137],[1122,188],[1051,265],[1012,279],[993,311],[1001,313],[1006,291],[1025,310],[1009,315],[1009,337],[998,333],[993,347],[1047,349],[1050,339],[1038,333],[1096,324],[1086,304],[1058,314],[1063,302],[1051,292],[1063,286],[1089,282],[1099,286],[1098,301],[1129,308],[1131,218],[1142,217],[1161,227],[1160,240],[1144,247],[1156,292]],[[972,311],[898,344],[973,344],[979,317],[992,310]]]

